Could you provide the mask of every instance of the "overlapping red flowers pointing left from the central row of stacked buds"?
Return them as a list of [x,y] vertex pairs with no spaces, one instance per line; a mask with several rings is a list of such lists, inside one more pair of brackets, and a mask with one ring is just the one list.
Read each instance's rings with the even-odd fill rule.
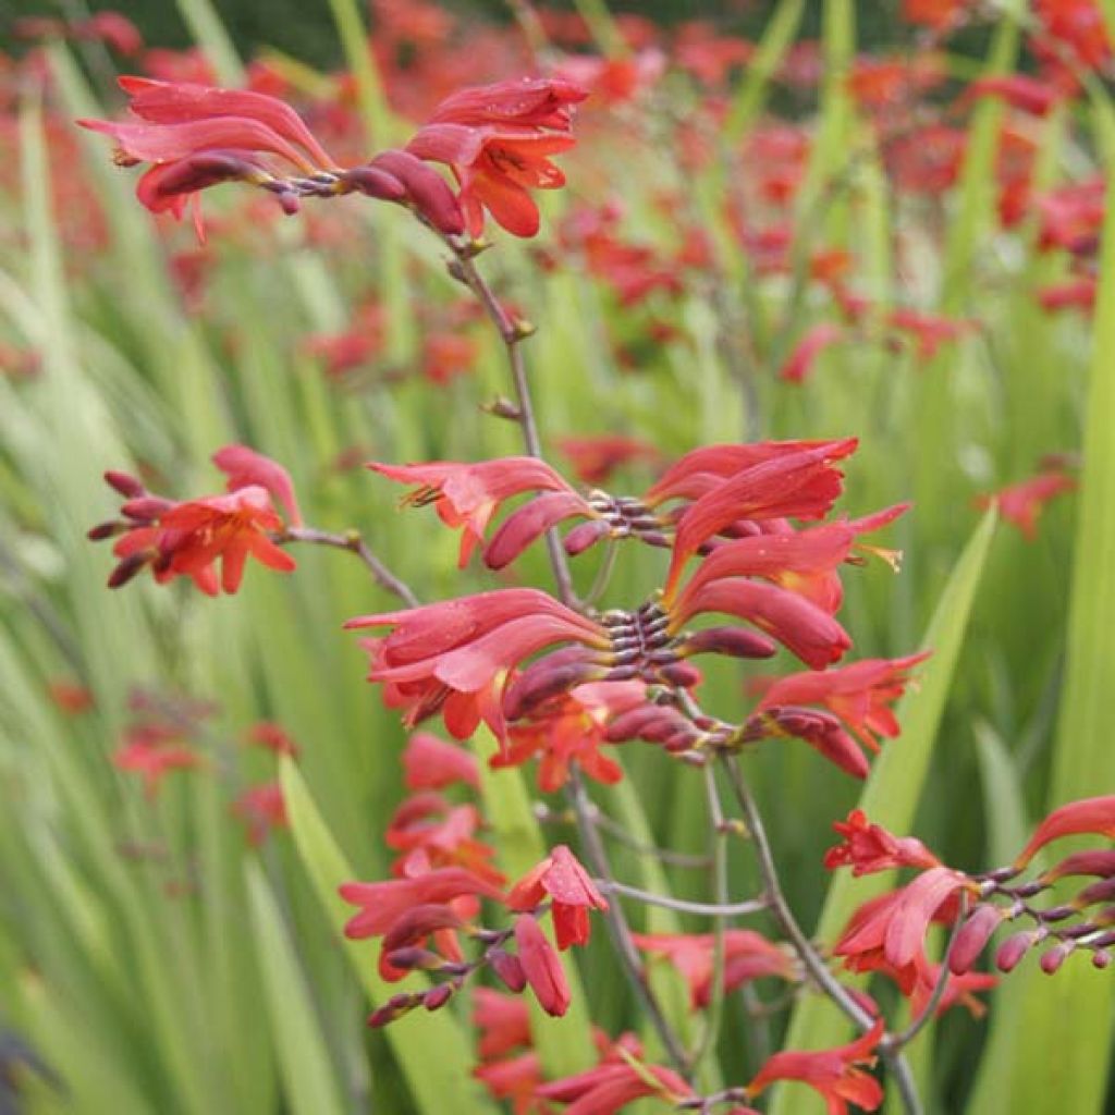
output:
[[506,739],[503,695],[512,670],[556,643],[608,651],[603,628],[535,589],[498,589],[378,615],[348,629],[390,627],[367,640],[369,681],[385,683],[388,707],[406,710],[410,725],[442,711],[445,726],[465,739],[483,719]]

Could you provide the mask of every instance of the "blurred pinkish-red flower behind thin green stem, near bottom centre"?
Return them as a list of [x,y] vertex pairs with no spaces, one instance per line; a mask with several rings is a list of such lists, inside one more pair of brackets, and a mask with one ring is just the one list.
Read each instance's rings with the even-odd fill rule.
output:
[[[634,943],[646,952],[665,957],[681,973],[689,987],[694,1010],[707,1007],[712,995],[712,933],[634,933]],[[749,929],[729,929],[724,933],[724,990],[765,976],[794,979],[788,953],[760,933]]]

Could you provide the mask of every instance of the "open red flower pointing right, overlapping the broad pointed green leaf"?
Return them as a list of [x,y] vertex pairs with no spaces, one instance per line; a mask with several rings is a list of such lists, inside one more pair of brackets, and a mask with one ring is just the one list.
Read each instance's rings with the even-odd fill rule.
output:
[[824,705],[838,716],[870,750],[879,750],[876,736],[893,739],[899,723],[890,709],[910,683],[910,671],[929,658],[929,651],[906,658],[869,658],[834,670],[792,673],[764,689],[756,712],[797,705]]

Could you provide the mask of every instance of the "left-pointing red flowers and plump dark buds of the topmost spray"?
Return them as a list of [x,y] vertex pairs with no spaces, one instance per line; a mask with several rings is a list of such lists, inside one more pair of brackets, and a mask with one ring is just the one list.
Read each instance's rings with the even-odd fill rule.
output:
[[289,105],[263,93],[192,81],[122,77],[138,119],[78,120],[116,142],[122,166],[151,163],[136,186],[153,213],[182,217],[193,205],[204,241],[200,194],[221,182],[246,182],[274,194],[287,213],[302,197],[359,192],[409,205],[447,234],[464,223],[448,184],[406,152],[384,152],[365,166],[339,167]]

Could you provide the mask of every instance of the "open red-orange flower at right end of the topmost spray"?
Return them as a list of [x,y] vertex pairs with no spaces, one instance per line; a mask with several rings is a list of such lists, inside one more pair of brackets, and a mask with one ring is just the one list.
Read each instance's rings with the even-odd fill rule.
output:
[[565,184],[549,156],[574,145],[573,106],[586,96],[570,81],[545,78],[462,89],[438,105],[406,149],[453,169],[469,235],[483,233],[487,210],[513,235],[533,236],[540,219],[529,191]]

